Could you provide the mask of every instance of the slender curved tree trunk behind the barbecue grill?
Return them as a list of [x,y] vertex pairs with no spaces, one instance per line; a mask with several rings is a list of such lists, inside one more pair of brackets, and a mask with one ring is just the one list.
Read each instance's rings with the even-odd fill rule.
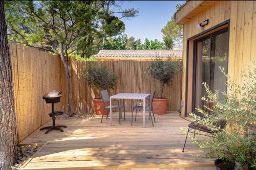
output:
[[63,63],[63,66],[65,68],[65,75],[68,79],[68,101],[69,101],[69,116],[72,116],[74,114],[74,105],[72,101],[72,79],[71,79],[71,68],[69,61],[63,54],[60,55],[61,61]]

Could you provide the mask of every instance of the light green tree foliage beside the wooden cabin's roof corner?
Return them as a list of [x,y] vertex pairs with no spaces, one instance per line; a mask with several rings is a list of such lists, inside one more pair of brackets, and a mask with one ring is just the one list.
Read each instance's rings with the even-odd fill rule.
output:
[[161,29],[164,37],[173,38],[178,46],[182,46],[183,25],[176,25],[174,15]]

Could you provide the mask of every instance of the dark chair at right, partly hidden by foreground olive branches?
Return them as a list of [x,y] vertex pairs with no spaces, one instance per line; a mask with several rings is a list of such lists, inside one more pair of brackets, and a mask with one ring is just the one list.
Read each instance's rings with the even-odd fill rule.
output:
[[[203,118],[203,117],[201,117],[201,118]],[[220,131],[212,131],[205,125],[202,125],[202,124],[199,124],[199,123],[196,123],[196,122],[192,122],[192,123],[188,124],[187,135],[192,129],[194,129],[194,132],[190,132],[190,133],[194,133],[194,138],[195,138],[195,134],[203,135],[203,134],[200,134],[200,133],[196,133],[196,130],[201,131],[201,132],[205,132],[205,133],[209,133],[213,137],[215,133],[221,132],[226,127],[226,123],[227,122],[226,122],[225,119],[217,120],[213,125],[216,126],[216,127],[220,127]],[[186,145],[186,141],[187,141],[187,135],[186,135],[186,139],[185,139],[185,143],[184,143],[182,152],[184,152],[184,149],[185,149],[185,145]],[[208,135],[204,135],[204,136],[208,136]]]

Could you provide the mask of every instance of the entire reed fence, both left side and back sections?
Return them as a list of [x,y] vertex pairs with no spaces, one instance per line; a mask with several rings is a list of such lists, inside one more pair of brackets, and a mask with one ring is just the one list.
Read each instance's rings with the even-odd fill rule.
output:
[[[21,44],[9,45],[17,117],[18,141],[22,141],[50,119],[51,105],[42,96],[51,90],[62,91],[61,102],[55,110],[68,111],[67,79],[60,58],[36,48]],[[110,95],[131,92],[158,93],[159,82],[145,72],[150,61],[97,61],[82,62],[70,58],[73,83],[73,104],[76,113],[93,113],[93,98],[99,98],[99,89],[88,85],[82,71],[91,63],[104,65],[118,76],[115,90]],[[168,110],[179,110],[181,100],[181,74],[164,87],[164,97],[169,98]],[[125,101],[126,111],[131,111],[132,102]]]

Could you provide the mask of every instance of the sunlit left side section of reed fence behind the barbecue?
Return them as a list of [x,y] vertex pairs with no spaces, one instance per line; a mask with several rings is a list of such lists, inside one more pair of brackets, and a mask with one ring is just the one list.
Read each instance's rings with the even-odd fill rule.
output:
[[58,89],[60,61],[56,56],[22,44],[10,43],[9,50],[20,142],[49,120],[51,106],[42,96]]

